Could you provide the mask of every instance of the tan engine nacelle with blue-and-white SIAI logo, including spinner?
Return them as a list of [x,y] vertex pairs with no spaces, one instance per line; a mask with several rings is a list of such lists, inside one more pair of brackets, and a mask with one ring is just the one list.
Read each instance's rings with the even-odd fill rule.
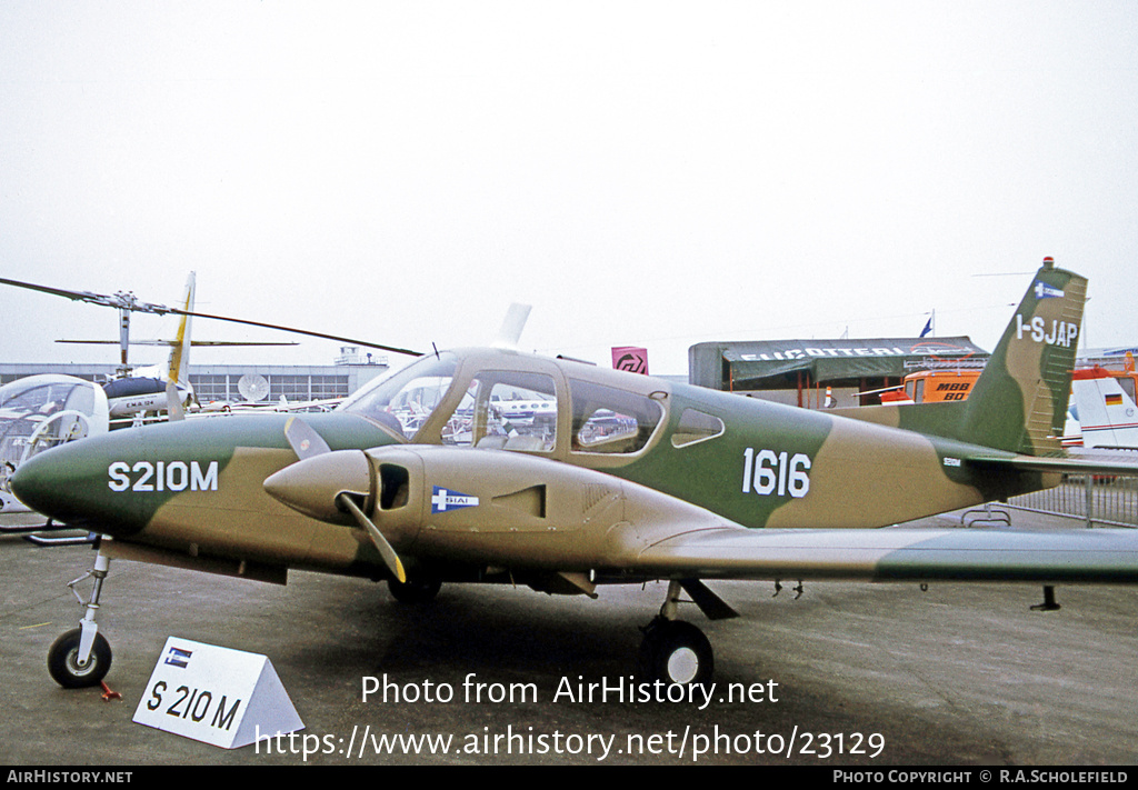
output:
[[734,526],[702,508],[537,455],[444,446],[337,451],[265,482],[314,518],[349,524],[348,494],[401,554],[504,568],[630,567],[643,548]]

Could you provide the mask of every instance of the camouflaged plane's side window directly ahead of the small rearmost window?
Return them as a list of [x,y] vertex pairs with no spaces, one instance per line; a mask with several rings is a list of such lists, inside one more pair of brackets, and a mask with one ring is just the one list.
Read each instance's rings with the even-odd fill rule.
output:
[[574,452],[640,452],[663,417],[663,408],[646,395],[577,380],[569,381],[569,390]]

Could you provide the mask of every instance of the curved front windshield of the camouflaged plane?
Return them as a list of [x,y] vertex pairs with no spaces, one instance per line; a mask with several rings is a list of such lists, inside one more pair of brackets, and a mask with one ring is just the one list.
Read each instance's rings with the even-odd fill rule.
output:
[[456,367],[453,354],[424,356],[361,389],[338,410],[366,417],[410,439],[451,388]]

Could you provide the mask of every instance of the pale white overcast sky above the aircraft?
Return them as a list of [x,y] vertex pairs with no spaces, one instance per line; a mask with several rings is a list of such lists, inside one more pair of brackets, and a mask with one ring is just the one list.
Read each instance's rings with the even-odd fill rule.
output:
[[[1132,0],[0,3],[13,279],[173,304],[196,270],[205,312],[414,348],[526,302],[526,348],[684,373],[933,310],[990,349],[1046,255],[1082,340],[1136,344],[1136,250]],[[116,357],[53,343],[110,310],[0,315],[0,361]]]

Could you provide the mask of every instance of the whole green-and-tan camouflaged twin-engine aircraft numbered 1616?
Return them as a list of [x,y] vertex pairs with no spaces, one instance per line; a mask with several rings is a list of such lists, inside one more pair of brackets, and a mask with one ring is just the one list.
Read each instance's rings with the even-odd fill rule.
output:
[[424,355],[336,412],[188,420],[85,439],[13,488],[102,534],[81,627],[52,647],[63,685],[97,683],[109,558],[283,583],[289,568],[594,595],[667,579],[642,672],[710,677],[676,618],[702,579],[1138,582],[1128,530],[881,529],[1056,485],[1086,280],[1046,261],[963,403],[813,412],[506,349]]

